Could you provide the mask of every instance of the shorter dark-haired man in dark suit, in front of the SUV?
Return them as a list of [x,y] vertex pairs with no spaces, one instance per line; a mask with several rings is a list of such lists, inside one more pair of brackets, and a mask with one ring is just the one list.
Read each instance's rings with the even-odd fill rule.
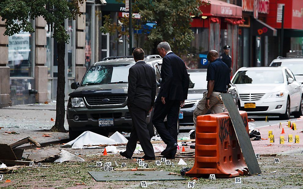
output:
[[143,159],[155,159],[155,153],[150,141],[146,117],[152,111],[156,96],[156,76],[152,66],[144,62],[144,51],[136,48],[133,51],[136,64],[130,67],[128,75],[127,106],[132,117],[133,127],[126,151],[120,155],[130,159],[136,149],[139,139],[144,152]]

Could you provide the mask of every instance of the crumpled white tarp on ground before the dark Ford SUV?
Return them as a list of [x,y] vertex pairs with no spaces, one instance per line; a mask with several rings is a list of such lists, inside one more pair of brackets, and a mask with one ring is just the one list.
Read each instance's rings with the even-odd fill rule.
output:
[[75,140],[72,140],[64,145],[61,148],[74,148],[82,149],[84,145],[99,145],[99,144],[119,144],[115,140],[104,137],[100,134],[96,134],[90,131],[85,131]]

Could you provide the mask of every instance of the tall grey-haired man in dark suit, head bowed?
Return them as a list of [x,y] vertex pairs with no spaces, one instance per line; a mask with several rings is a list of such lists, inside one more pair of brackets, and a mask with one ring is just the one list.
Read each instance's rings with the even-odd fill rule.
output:
[[[152,123],[166,144],[161,153],[167,159],[174,159],[177,152],[177,127],[180,106],[187,99],[189,77],[183,60],[175,55],[167,42],[157,46],[163,58],[161,66],[161,88],[155,102]],[[167,116],[167,127],[164,119]]]

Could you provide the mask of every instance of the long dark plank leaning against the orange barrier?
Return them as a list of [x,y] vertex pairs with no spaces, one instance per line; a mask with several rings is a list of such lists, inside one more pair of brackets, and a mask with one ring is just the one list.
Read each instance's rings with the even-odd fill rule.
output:
[[235,102],[232,98],[232,94],[220,93],[220,97],[226,109],[228,110],[228,114],[232,121],[232,125],[234,126],[235,134],[239,141],[239,145],[249,173],[251,175],[261,173],[260,166],[254,153],[254,148],[250,142],[246,128],[244,127],[243,119],[241,118],[239,111],[235,105]]

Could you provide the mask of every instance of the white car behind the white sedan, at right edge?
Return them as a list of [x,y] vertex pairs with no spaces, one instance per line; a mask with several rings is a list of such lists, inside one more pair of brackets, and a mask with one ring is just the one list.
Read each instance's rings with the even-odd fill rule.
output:
[[274,59],[269,66],[278,67],[278,66],[285,66],[292,73],[294,73],[294,77],[296,80],[303,84],[303,57],[296,57],[296,58],[283,58],[278,57]]

